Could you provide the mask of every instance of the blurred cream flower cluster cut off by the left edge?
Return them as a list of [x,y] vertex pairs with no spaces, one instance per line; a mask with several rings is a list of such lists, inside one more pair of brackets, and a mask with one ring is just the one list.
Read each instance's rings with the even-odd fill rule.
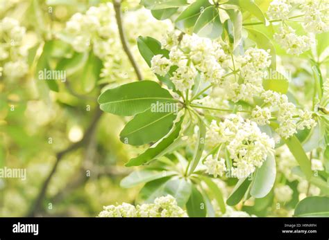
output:
[[28,71],[27,49],[22,44],[25,33],[16,19],[5,17],[0,21],[0,62],[8,77],[23,77]]

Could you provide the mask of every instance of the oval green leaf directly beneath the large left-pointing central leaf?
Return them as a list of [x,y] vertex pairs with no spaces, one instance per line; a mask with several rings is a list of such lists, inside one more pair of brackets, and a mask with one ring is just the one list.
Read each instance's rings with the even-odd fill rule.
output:
[[170,131],[175,118],[175,112],[153,112],[151,108],[147,109],[126,124],[120,133],[120,140],[134,146],[158,141]]

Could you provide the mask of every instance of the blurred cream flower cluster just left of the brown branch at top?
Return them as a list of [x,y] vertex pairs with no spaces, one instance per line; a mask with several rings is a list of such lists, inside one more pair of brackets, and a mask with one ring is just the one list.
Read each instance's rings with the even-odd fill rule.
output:
[[73,37],[71,46],[79,53],[92,46],[94,54],[100,58],[110,53],[112,37],[117,33],[111,3],[91,7],[85,15],[76,13],[67,21],[65,31]]

